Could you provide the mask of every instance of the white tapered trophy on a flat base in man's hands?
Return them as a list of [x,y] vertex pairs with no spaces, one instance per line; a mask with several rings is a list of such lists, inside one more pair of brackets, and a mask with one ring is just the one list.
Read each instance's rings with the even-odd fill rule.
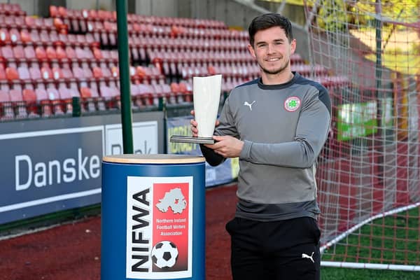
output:
[[193,102],[198,137],[171,137],[171,142],[214,144],[218,106],[221,100],[222,75],[193,77]]

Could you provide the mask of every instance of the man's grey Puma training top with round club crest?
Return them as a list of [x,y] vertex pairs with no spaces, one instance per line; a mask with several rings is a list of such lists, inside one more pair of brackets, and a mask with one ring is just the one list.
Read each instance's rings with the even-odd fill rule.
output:
[[[244,141],[239,155],[236,216],[279,221],[320,213],[316,158],[330,127],[328,91],[299,73],[288,83],[239,85],[225,101],[216,135]],[[202,147],[210,165],[220,155]]]

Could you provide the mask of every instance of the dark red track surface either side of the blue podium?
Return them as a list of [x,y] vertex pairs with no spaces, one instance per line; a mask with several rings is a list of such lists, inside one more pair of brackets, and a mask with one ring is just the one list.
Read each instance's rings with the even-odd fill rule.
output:
[[[206,191],[206,279],[228,280],[236,186]],[[0,280],[99,280],[99,216],[0,241]]]

